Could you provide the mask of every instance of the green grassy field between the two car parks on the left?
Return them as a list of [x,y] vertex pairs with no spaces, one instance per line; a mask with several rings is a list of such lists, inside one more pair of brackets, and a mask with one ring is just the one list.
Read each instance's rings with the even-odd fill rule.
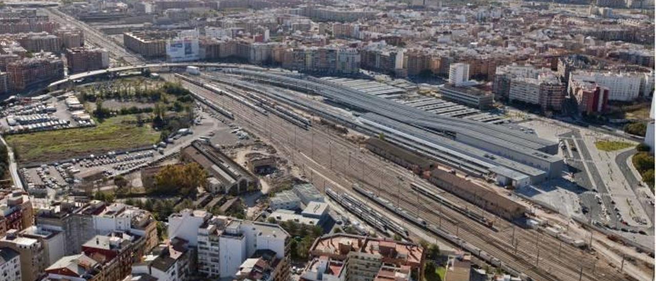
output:
[[134,120],[130,115],[117,116],[105,119],[96,127],[11,135],[7,142],[18,152],[19,162],[31,163],[136,148],[154,144],[159,139],[159,133],[149,125],[138,127],[126,123]]

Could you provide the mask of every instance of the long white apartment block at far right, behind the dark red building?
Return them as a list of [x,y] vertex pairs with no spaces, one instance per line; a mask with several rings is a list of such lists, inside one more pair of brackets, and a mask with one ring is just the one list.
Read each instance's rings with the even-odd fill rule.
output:
[[636,73],[611,73],[611,72],[573,72],[569,76],[571,81],[590,81],[609,91],[608,100],[631,101],[640,95],[641,80],[646,77]]

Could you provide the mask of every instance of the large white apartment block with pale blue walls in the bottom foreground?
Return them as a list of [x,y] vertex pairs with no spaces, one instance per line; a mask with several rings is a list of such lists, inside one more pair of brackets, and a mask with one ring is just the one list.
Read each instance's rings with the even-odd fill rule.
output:
[[213,216],[207,211],[185,209],[169,217],[169,237],[197,246],[198,272],[209,278],[236,277],[242,263],[258,250],[273,251],[284,263],[286,280],[287,239],[279,225]]

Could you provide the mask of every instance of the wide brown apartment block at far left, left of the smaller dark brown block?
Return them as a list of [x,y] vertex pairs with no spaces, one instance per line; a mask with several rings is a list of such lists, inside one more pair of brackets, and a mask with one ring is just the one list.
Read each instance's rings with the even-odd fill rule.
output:
[[37,53],[7,64],[10,88],[25,91],[64,78],[64,61],[51,53]]

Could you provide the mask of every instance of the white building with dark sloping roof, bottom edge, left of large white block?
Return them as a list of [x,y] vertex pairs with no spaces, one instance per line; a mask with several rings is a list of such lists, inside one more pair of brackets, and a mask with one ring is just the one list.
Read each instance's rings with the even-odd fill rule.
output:
[[153,248],[140,263],[135,263],[132,275],[159,281],[184,281],[192,272],[191,261],[192,249],[189,249],[187,242],[173,238],[167,244]]

